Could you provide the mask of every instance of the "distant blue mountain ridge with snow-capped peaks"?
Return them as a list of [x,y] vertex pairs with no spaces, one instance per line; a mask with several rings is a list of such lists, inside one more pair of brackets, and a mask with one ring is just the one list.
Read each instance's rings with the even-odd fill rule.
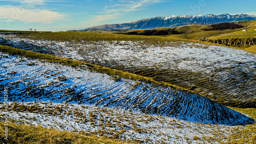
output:
[[256,16],[247,14],[229,15],[227,13],[221,15],[206,14],[206,15],[181,15],[181,16],[166,16],[166,17],[154,17],[145,18],[134,22],[101,25],[92,27],[99,30],[112,30],[112,29],[123,29],[123,30],[136,30],[136,29],[154,29],[154,28],[173,28],[184,25],[212,25],[221,22],[233,22],[241,20],[254,20]]

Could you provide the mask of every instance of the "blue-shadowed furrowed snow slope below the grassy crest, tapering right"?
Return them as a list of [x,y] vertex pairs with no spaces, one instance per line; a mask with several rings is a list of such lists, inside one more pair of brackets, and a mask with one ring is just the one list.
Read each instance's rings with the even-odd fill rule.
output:
[[189,122],[240,125],[253,120],[193,92],[150,83],[115,79],[84,66],[39,62],[1,53],[0,87],[10,101],[78,103],[142,111]]

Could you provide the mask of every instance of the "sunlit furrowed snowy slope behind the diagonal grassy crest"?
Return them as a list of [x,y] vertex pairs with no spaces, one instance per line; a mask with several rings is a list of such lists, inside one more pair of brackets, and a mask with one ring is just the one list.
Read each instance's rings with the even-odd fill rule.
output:
[[127,71],[194,90],[221,104],[256,108],[256,55],[188,42],[58,42],[0,35],[0,43]]

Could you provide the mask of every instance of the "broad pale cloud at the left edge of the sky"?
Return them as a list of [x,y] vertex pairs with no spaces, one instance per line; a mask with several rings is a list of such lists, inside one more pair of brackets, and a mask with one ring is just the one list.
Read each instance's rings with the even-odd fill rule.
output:
[[0,20],[19,20],[28,23],[52,23],[54,20],[63,19],[64,15],[49,10],[31,10],[24,7],[0,6]]

